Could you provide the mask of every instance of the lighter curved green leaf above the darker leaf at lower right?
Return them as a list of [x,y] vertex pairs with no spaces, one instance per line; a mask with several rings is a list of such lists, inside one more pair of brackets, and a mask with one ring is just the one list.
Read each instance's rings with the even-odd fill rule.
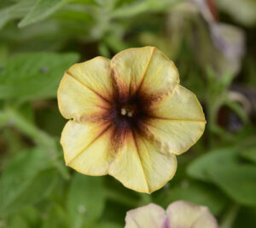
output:
[[218,168],[239,162],[239,151],[236,148],[220,148],[206,153],[190,163],[187,173],[198,180],[208,180],[207,169]]

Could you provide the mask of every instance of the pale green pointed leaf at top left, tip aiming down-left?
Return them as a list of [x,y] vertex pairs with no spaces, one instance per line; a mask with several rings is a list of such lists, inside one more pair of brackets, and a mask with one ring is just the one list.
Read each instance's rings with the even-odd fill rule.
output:
[[69,0],[38,0],[31,11],[26,14],[26,17],[20,21],[18,26],[21,28],[40,20],[44,20],[50,14],[53,14],[56,10],[60,9],[68,1]]

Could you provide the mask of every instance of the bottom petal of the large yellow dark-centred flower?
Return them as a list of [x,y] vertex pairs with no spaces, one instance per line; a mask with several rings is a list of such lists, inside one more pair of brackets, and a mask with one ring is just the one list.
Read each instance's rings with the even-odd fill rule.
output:
[[171,180],[177,169],[176,157],[161,153],[157,145],[128,132],[109,168],[123,185],[135,191],[153,192]]

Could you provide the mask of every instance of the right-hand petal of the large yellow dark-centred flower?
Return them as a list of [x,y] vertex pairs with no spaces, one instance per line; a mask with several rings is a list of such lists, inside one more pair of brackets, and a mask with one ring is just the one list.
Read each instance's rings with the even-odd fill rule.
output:
[[201,137],[205,116],[195,94],[177,85],[173,94],[150,106],[148,134],[174,154],[187,151]]

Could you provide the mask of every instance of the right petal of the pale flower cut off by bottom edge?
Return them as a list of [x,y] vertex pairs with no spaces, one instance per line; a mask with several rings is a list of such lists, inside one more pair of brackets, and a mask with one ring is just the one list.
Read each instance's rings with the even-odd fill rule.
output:
[[190,202],[172,202],[167,208],[167,216],[172,228],[218,228],[208,208]]

